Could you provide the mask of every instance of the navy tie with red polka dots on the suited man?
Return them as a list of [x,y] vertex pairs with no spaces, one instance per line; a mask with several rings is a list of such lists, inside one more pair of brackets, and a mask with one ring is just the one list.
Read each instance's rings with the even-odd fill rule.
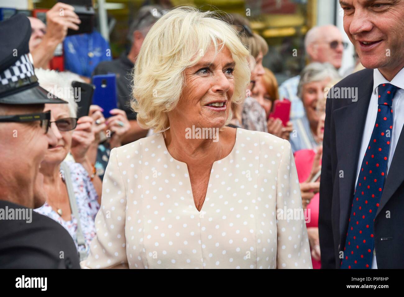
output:
[[376,122],[353,194],[341,268],[366,269],[372,267],[373,249],[375,248],[373,223],[386,177],[390,135],[393,129],[391,105],[397,89],[392,84],[379,85]]

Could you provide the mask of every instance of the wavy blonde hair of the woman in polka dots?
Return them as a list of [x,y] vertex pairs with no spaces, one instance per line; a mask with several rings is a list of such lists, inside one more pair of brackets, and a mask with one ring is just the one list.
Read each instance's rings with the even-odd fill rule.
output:
[[[168,128],[167,112],[180,100],[185,84],[184,70],[196,65],[213,44],[218,53],[227,47],[236,63],[231,102],[244,100],[250,82],[248,50],[234,28],[218,13],[194,7],[177,7],[151,27],[133,68],[132,109],[143,128],[160,132]],[[231,112],[227,122],[231,120]]]

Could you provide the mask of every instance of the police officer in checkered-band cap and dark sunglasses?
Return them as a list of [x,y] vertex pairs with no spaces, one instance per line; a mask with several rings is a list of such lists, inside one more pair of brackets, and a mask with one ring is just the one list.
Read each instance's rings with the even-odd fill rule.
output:
[[46,200],[39,173],[48,147],[50,99],[38,84],[22,14],[0,23],[0,268],[80,268],[73,238],[59,223],[35,213]]

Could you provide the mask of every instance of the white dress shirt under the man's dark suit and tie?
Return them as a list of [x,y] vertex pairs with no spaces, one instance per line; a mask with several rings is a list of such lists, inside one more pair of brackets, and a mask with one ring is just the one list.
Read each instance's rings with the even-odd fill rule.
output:
[[[391,160],[393,159],[394,151],[396,150],[396,145],[398,142],[398,138],[401,134],[401,129],[404,124],[404,68],[394,76],[394,78],[389,82],[384,76],[380,73],[379,69],[373,70],[373,92],[372,97],[370,97],[368,114],[366,116],[365,128],[363,131],[362,144],[360,146],[359,160],[358,160],[358,168],[356,170],[356,183],[358,182],[359,171],[362,165],[362,160],[365,156],[366,149],[368,148],[368,144],[370,141],[370,137],[372,137],[373,126],[376,122],[377,117],[377,106],[378,102],[378,93],[377,87],[379,84],[393,84],[394,86],[399,87],[396,95],[393,97],[393,131],[391,132],[390,137],[390,151],[389,158],[387,160],[387,174],[389,172]],[[386,176],[387,177],[387,176]],[[376,255],[373,253],[373,261],[372,261],[372,269],[377,269],[376,263]]]

